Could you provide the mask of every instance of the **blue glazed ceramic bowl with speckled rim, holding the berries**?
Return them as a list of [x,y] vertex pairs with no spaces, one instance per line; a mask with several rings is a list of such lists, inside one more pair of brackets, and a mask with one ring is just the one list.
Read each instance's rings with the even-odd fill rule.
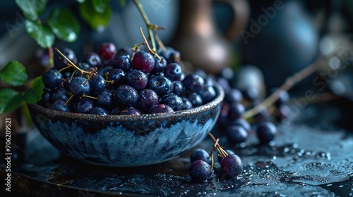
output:
[[162,163],[189,151],[215,126],[224,98],[174,113],[92,115],[29,105],[42,135],[62,153],[96,165],[131,167]]

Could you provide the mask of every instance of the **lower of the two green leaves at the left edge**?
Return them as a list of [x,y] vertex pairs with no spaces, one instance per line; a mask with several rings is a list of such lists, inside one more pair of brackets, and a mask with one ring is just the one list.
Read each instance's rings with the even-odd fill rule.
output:
[[23,96],[13,89],[0,90],[0,113],[10,113],[23,102]]

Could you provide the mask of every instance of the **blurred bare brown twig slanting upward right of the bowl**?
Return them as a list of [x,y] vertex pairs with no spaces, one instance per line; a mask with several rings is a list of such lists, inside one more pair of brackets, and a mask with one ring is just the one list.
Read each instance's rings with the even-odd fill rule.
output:
[[273,92],[273,94],[268,96],[268,98],[259,103],[257,106],[251,108],[250,110],[247,110],[243,114],[243,117],[246,119],[253,117],[256,114],[261,113],[262,110],[265,110],[266,108],[273,105],[273,103],[275,103],[275,101],[277,101],[277,99],[280,97],[281,91],[288,91],[289,89],[294,87],[295,84],[297,84],[301,80],[304,80],[306,77],[313,74],[313,72],[316,72],[316,70],[318,70],[318,68],[323,65],[323,62],[327,61],[327,59],[330,57],[331,56],[321,56],[321,58],[318,58],[318,60],[312,63],[311,65],[307,66],[303,70],[300,70],[291,77],[288,77],[285,83],[280,86],[280,88],[278,88],[275,92]]

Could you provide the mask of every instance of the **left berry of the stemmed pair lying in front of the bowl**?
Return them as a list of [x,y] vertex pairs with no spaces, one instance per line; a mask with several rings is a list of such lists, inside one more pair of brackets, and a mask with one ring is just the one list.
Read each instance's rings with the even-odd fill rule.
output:
[[189,167],[189,174],[194,182],[203,182],[212,175],[210,165],[204,160],[196,160]]

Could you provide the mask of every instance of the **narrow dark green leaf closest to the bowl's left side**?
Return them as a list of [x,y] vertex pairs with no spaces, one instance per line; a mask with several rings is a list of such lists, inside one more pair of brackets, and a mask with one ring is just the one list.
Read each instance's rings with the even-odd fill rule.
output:
[[25,91],[23,98],[27,103],[37,103],[42,98],[44,83],[42,76],[32,81],[32,88]]

